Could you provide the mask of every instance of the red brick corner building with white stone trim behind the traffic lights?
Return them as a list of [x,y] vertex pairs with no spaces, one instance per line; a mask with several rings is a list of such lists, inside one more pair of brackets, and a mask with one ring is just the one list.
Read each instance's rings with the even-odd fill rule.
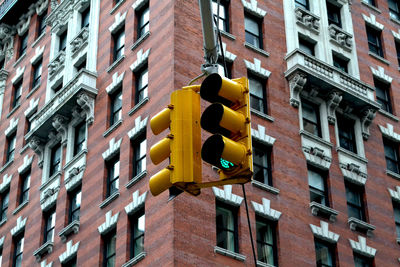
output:
[[[219,4],[258,266],[398,266],[400,2]],[[195,0],[1,1],[2,266],[254,266],[240,186],[148,193],[149,118],[202,44]]]

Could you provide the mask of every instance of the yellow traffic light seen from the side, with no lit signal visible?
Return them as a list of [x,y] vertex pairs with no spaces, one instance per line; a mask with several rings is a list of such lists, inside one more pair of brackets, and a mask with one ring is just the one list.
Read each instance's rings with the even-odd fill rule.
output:
[[170,134],[150,148],[150,158],[159,164],[169,157],[169,165],[150,178],[151,193],[156,196],[172,186],[190,194],[200,194],[188,185],[201,183],[200,96],[198,86],[188,86],[171,94],[171,105],[150,120],[157,135],[168,127]]

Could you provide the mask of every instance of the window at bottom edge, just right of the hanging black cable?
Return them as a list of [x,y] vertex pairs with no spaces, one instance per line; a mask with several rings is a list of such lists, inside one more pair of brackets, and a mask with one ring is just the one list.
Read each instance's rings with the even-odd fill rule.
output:
[[257,259],[261,262],[276,266],[277,247],[275,225],[256,216]]

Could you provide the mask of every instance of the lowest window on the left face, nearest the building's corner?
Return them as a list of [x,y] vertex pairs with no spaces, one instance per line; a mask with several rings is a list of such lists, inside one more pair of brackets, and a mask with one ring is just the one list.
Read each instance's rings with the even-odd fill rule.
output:
[[144,208],[136,212],[131,218],[131,259],[144,251]]

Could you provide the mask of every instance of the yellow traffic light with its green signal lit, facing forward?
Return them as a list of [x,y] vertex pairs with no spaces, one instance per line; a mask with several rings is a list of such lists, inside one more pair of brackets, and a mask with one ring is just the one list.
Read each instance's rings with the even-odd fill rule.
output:
[[201,157],[218,167],[220,179],[246,178],[253,173],[248,80],[210,74],[201,84],[200,96],[213,104],[201,116],[201,127],[212,133]]

